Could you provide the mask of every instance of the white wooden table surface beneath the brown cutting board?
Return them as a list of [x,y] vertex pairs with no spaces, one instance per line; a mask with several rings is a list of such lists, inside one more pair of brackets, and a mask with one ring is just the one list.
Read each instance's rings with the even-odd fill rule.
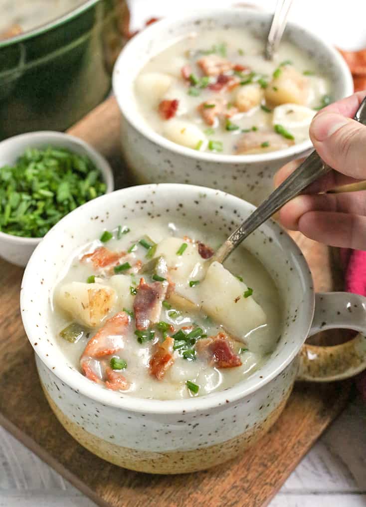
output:
[[[200,0],[199,5],[214,9],[232,3]],[[271,10],[275,0],[251,3]],[[176,13],[180,2],[130,0],[130,5],[132,22],[138,26],[152,16]],[[184,2],[185,9],[195,9],[197,5],[197,0]],[[295,0],[290,19],[344,49],[366,47],[365,0]],[[0,428],[0,507],[95,504]],[[270,507],[366,507],[366,405],[360,399],[353,401],[323,434]]]

